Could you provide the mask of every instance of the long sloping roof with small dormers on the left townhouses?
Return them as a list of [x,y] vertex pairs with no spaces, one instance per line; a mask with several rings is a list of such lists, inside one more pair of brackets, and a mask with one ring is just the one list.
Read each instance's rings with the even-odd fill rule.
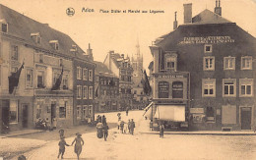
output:
[[[26,44],[69,57],[75,57],[70,49],[72,48],[72,45],[76,45],[78,55],[85,53],[67,34],[51,28],[48,25],[36,22],[31,18],[0,4],[0,20],[2,19],[8,24],[7,34],[22,39]],[[37,32],[39,32],[41,37],[40,44],[37,44],[31,37],[31,33]],[[58,40],[58,50],[54,50],[49,43],[50,40]],[[83,56],[80,58],[85,59]]]

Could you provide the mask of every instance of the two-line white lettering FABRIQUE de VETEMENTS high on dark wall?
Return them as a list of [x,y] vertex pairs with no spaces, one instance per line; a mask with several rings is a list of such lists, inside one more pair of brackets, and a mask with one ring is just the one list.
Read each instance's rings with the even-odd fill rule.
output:
[[218,43],[234,43],[234,39],[230,36],[199,36],[184,37],[178,44],[218,44]]

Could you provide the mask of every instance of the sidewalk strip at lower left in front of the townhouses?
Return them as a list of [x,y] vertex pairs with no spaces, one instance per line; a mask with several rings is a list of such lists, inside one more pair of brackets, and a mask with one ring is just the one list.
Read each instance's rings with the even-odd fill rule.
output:
[[0,134],[0,138],[14,137],[14,136],[32,134],[32,133],[43,133],[43,132],[45,132],[45,131],[43,131],[43,130],[18,130],[18,131],[12,131],[9,133],[2,133],[2,134]]

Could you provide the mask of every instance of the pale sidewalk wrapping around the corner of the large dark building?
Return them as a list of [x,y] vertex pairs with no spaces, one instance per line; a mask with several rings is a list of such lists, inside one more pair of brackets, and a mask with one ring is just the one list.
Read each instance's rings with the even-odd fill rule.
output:
[[[150,120],[142,120],[139,133],[159,134],[160,132],[150,131]],[[256,135],[253,131],[192,131],[192,132],[165,132],[164,134],[197,134],[197,135]]]

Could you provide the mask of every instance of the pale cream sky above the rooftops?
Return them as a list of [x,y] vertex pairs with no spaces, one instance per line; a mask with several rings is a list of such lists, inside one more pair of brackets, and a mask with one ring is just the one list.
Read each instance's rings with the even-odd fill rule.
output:
[[[149,46],[160,35],[173,30],[174,12],[177,11],[178,25],[182,25],[183,4],[192,3],[194,17],[205,9],[214,11],[216,0],[0,0],[0,3],[68,34],[84,51],[91,43],[94,58],[99,62],[103,62],[109,50],[131,57],[139,42],[147,69],[153,60]],[[66,14],[70,7],[75,10],[74,16]],[[221,7],[225,19],[256,37],[256,0],[221,0]],[[94,12],[82,12],[83,8]],[[102,13],[102,10],[121,13]]]

